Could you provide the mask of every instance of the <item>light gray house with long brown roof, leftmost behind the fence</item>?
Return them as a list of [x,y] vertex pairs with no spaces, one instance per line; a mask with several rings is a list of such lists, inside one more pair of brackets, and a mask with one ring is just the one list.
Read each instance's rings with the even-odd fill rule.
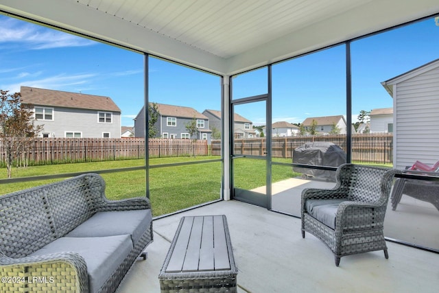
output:
[[21,86],[21,102],[43,125],[41,137],[121,137],[121,109],[110,97]]

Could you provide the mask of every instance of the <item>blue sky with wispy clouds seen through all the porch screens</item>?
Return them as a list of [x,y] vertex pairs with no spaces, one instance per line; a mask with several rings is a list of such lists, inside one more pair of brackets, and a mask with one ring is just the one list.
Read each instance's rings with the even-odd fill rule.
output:
[[[351,45],[353,114],[392,107],[381,82],[439,58],[434,19],[405,26]],[[0,89],[20,86],[111,97],[122,125],[143,106],[143,55],[0,15]],[[274,65],[273,121],[298,123],[307,117],[346,115],[344,47],[333,47]],[[150,101],[220,110],[220,79],[150,58]],[[266,70],[233,80],[236,97],[267,91]],[[239,106],[239,114],[265,124],[260,106]]]

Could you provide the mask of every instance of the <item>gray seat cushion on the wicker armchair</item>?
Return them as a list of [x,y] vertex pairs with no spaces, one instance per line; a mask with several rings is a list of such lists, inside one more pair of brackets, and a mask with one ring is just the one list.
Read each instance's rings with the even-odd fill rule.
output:
[[338,206],[346,200],[348,199],[307,200],[305,208],[313,218],[335,229],[335,215],[337,214]]

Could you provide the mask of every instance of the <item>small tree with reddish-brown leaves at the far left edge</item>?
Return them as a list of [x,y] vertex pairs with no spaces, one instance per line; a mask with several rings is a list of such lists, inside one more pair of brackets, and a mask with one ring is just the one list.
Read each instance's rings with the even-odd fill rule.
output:
[[0,90],[0,143],[5,152],[8,178],[12,164],[29,146],[30,139],[43,130],[35,126],[32,111],[21,104],[21,93]]

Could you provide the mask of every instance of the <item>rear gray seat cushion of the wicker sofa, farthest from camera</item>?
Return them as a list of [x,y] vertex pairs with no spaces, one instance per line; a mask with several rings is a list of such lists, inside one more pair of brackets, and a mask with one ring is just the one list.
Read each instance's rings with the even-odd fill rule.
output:
[[136,244],[152,222],[150,209],[99,211],[74,228],[67,237],[102,237],[129,234]]

